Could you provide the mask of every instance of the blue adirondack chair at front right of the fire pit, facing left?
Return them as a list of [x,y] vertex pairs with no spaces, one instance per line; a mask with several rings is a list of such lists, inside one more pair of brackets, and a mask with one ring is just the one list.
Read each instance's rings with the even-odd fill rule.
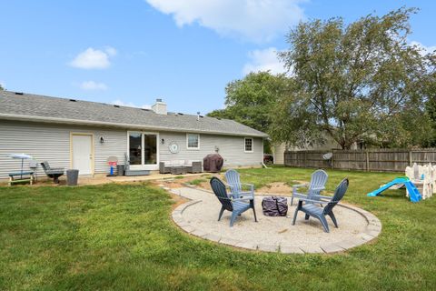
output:
[[[322,198],[324,199],[330,199],[329,201],[311,200],[308,198],[299,197],[298,206],[297,209],[295,209],[295,214],[293,215],[292,226],[295,226],[295,220],[297,219],[298,212],[302,211],[306,214],[304,217],[304,219],[306,220],[308,220],[310,216],[319,219],[321,221],[322,227],[324,228],[324,232],[326,233],[329,233],[330,229],[329,225],[327,224],[327,219],[325,219],[325,216],[330,216],[330,218],[332,218],[334,226],[338,227],[338,222],[336,221],[336,217],[333,214],[333,208],[339,203],[339,201],[341,201],[342,197],[345,195],[345,192],[347,192],[348,184],[348,179],[345,178],[336,188],[333,196],[322,196]],[[316,206],[315,203],[325,206]]]

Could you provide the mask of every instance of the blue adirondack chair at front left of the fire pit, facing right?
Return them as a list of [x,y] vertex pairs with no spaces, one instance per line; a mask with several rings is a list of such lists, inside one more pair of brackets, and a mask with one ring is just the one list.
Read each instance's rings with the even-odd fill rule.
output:
[[220,215],[218,216],[218,221],[221,220],[224,210],[227,210],[232,212],[232,217],[230,218],[230,226],[233,226],[234,220],[236,219],[237,216],[243,214],[243,212],[252,208],[254,214],[254,221],[257,222],[253,197],[233,198],[228,196],[227,190],[225,189],[225,185],[217,177],[213,177],[210,183],[212,186],[213,193],[221,202],[221,210],[220,210]]

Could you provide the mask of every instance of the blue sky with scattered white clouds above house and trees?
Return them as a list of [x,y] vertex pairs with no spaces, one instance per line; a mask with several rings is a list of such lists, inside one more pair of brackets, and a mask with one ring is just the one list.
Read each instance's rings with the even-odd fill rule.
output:
[[0,0],[7,90],[207,114],[249,72],[284,71],[276,52],[301,21],[350,23],[401,6],[411,44],[436,49],[432,0]]

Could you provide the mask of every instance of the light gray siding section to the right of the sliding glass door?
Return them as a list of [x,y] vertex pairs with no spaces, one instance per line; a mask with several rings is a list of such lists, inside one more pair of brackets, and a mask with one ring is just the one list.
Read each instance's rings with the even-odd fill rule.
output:
[[[164,144],[160,145],[160,161],[177,159],[200,160],[208,154],[215,153],[215,146],[220,148],[219,154],[223,156],[224,166],[260,166],[263,162],[263,139],[253,137],[253,153],[245,153],[244,136],[232,135],[203,135],[200,134],[200,149],[186,148],[186,134],[160,133],[160,139]],[[247,136],[248,137],[248,136]],[[179,153],[170,152],[168,145],[176,142]]]

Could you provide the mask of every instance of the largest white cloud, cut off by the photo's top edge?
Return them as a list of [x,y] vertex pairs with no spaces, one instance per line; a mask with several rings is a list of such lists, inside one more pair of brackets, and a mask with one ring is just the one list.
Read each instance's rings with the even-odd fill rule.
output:
[[305,0],[145,0],[178,26],[197,23],[220,35],[270,41],[304,18]]

